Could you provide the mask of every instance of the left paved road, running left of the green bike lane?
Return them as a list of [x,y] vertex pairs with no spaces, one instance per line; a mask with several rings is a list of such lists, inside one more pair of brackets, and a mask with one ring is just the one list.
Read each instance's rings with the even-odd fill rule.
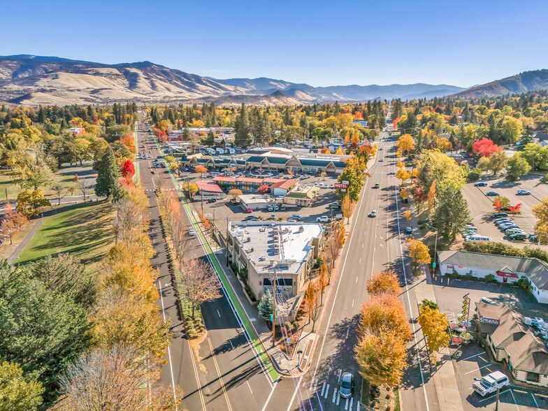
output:
[[[158,288],[161,290],[159,304],[163,308],[166,321],[171,321],[173,338],[171,339],[170,359],[162,370],[161,380],[166,384],[178,384],[185,392],[182,406],[189,410],[278,410],[287,407],[294,384],[291,380],[282,380],[273,384],[264,373],[252,347],[247,343],[243,329],[234,315],[226,296],[203,304],[204,324],[208,330],[206,340],[201,343],[196,363],[189,342],[184,338],[182,325],[178,317],[175,292],[168,271],[168,260],[157,208],[154,184],[157,180],[151,173],[151,162],[161,155],[152,136],[138,131],[138,149],[150,152],[152,159],[138,160],[140,178],[150,199],[150,235],[154,241],[157,255],[152,264],[160,270]],[[154,169],[166,182],[168,189],[175,189],[173,179],[166,169]],[[188,226],[191,222],[184,210],[182,215]],[[199,238],[192,242],[192,252],[196,258],[204,258],[206,252]],[[276,395],[274,394],[274,389]]]

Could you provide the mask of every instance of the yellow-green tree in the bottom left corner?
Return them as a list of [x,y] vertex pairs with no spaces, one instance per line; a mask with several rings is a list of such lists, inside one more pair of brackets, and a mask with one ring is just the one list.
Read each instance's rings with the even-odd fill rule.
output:
[[42,384],[23,375],[18,363],[0,363],[0,410],[38,410],[43,392]]

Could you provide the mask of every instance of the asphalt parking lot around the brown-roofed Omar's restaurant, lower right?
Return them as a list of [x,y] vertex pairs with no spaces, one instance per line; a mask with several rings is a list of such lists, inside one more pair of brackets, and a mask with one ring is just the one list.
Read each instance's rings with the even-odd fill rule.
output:
[[[434,292],[440,311],[447,314],[448,319],[456,319],[461,315],[463,296],[470,298],[470,319],[475,312],[475,303],[482,297],[490,298],[496,303],[509,305],[528,317],[548,317],[548,308],[535,303],[533,297],[519,287],[508,284],[488,284],[473,280],[436,277],[433,280]],[[457,320],[458,321],[458,320]],[[470,345],[451,345],[449,347],[456,372],[456,380],[463,400],[465,410],[478,408],[492,410],[496,396],[479,396],[472,388],[475,378],[481,378],[494,371],[502,371],[509,375],[502,363],[493,361],[491,354],[475,343]],[[548,410],[548,396],[542,389],[523,388],[511,382],[499,394],[499,410]]]

